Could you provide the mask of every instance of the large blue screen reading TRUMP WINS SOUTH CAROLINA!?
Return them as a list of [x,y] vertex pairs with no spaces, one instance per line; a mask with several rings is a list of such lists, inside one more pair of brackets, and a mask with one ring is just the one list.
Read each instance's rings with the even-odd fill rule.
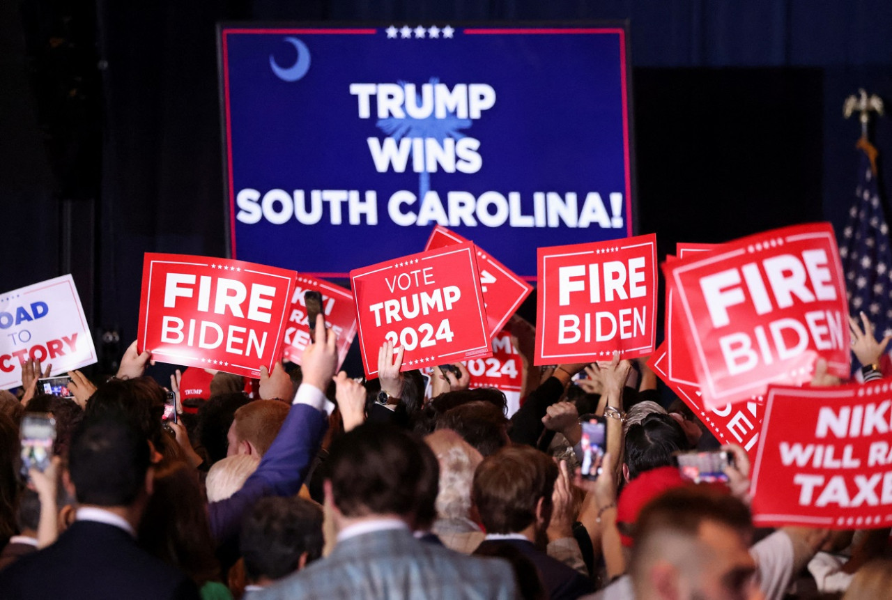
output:
[[321,276],[436,224],[519,275],[632,234],[622,27],[220,29],[231,253]]

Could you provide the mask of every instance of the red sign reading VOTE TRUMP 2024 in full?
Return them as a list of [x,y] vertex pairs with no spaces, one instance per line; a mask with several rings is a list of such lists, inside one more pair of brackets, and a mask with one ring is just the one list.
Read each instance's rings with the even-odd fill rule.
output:
[[405,349],[403,371],[492,356],[473,243],[353,269],[350,279],[367,377],[377,377],[387,340]]

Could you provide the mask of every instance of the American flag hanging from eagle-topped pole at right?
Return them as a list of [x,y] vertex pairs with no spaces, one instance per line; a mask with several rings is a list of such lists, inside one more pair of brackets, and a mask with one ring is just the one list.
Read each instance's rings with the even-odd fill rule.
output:
[[850,313],[857,316],[863,311],[882,339],[892,333],[892,250],[880,188],[866,154],[862,155],[860,168],[855,203],[848,211],[839,255],[846,271]]

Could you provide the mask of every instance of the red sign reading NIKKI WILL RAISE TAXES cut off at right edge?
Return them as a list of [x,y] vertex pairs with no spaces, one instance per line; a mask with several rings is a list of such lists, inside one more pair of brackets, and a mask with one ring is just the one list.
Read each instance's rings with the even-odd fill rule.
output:
[[768,389],[753,522],[838,530],[892,525],[892,382]]

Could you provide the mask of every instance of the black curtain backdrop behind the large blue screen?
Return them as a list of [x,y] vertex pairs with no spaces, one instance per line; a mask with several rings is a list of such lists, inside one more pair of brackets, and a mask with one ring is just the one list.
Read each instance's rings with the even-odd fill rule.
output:
[[[865,86],[892,100],[881,0],[2,6],[0,288],[72,272],[97,335],[122,343],[136,336],[145,251],[225,252],[218,21],[629,19],[639,225],[663,252],[806,220],[840,226],[859,133],[843,99]],[[888,119],[875,139],[892,151]]]

